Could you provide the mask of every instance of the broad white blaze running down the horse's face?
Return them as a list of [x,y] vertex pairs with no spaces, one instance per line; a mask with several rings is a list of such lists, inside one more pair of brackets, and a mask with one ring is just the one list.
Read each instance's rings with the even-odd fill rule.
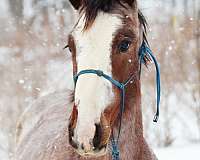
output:
[[[111,52],[114,33],[122,21],[112,14],[99,13],[94,24],[83,32],[84,16],[73,31],[77,49],[78,72],[85,69],[102,70],[112,76]],[[93,74],[81,75],[75,90],[78,121],[75,135],[80,143],[88,143],[95,134],[95,123],[113,101],[112,84]],[[86,142],[87,141],[87,142]]]

